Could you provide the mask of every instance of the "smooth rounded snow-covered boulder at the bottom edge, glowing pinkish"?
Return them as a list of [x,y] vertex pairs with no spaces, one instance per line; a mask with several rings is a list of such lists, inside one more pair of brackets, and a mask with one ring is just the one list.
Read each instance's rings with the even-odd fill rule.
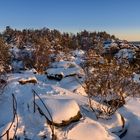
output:
[[68,133],[68,139],[119,140],[117,136],[109,134],[101,124],[89,119],[86,119],[73,127]]

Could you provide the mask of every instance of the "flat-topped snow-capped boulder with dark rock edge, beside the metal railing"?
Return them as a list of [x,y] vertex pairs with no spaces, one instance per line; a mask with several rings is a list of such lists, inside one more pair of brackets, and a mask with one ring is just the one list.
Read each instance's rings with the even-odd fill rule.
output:
[[43,111],[43,113],[48,117],[49,121],[52,122],[55,126],[65,126],[71,122],[78,121],[82,117],[79,105],[74,100],[47,98],[42,100],[48,108],[49,112],[45,109],[40,100],[36,99],[35,102]]

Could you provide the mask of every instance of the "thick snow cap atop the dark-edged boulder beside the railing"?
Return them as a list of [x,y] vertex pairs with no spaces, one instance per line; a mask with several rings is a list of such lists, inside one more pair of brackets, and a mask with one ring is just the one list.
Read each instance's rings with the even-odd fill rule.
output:
[[[52,116],[53,122],[56,124],[61,124],[63,123],[63,121],[68,121],[71,118],[75,117],[78,114],[78,112],[80,112],[80,108],[78,104],[71,99],[47,99],[47,98],[44,99],[43,98],[42,100],[47,106]],[[36,101],[36,103],[44,112],[46,112],[45,107],[43,107],[43,105],[40,103],[40,100]],[[51,121],[50,116],[48,114],[47,116]]]

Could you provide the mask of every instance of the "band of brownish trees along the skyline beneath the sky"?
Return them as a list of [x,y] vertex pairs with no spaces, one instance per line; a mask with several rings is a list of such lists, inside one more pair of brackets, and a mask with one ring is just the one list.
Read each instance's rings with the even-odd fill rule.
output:
[[96,47],[99,43],[106,40],[116,40],[114,35],[104,32],[89,32],[81,31],[77,34],[61,33],[54,29],[23,29],[17,30],[7,26],[6,29],[0,34],[7,44],[15,44],[18,48],[24,46],[35,46],[39,43],[47,43],[52,47],[60,49],[84,49]]

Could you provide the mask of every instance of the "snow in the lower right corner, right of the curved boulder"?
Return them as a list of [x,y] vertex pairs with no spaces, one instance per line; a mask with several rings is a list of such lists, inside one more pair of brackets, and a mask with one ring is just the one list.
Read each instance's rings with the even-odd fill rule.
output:
[[128,131],[122,140],[140,139],[140,98],[128,98],[119,112],[128,120]]

